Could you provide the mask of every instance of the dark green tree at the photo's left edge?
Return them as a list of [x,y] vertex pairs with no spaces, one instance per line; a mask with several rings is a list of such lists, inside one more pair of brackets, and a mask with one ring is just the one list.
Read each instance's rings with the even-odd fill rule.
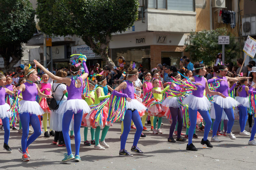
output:
[[34,18],[35,10],[29,0],[0,1],[0,55],[4,58],[5,70],[12,70],[23,56],[22,44],[30,40],[36,30]]

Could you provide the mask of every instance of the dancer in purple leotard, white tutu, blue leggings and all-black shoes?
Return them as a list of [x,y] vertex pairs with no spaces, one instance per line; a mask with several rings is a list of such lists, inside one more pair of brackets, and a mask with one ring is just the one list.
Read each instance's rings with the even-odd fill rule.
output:
[[207,80],[204,78],[206,73],[205,66],[203,63],[195,63],[195,72],[196,76],[190,77],[189,79],[192,82],[195,82],[197,86],[197,90],[194,90],[192,94],[187,96],[183,100],[183,104],[188,105],[188,112],[189,112],[189,120],[190,120],[190,127],[188,130],[188,144],[187,150],[197,151],[197,148],[192,144],[192,138],[194,129],[196,127],[196,118],[197,118],[197,111],[201,114],[205,121],[204,127],[204,138],[201,141],[201,144],[206,144],[207,147],[212,148],[212,144],[207,139],[209,131],[211,129],[212,120],[210,118],[208,110],[210,109],[211,105],[209,100],[204,96],[204,89],[207,94],[211,95],[220,95],[221,97],[225,98],[220,92],[213,92],[209,90]]

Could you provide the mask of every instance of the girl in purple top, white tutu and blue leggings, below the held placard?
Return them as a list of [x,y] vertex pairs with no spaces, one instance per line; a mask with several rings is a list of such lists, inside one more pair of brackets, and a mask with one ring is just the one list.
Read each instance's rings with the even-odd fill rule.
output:
[[242,85],[240,85],[237,88],[236,94],[238,96],[236,96],[236,101],[238,101],[240,104],[238,105],[238,109],[239,109],[239,125],[240,125],[240,132],[239,135],[242,136],[250,136],[251,134],[249,132],[247,132],[246,130],[244,130],[245,128],[245,124],[247,121],[247,114],[248,114],[248,108],[249,106],[249,98],[248,98],[248,91],[249,91],[249,87],[247,79],[243,79],[240,81],[240,83]]

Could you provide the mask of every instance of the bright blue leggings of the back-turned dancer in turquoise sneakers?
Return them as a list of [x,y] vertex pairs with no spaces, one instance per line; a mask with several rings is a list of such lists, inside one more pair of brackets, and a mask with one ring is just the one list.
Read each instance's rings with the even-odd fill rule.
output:
[[[68,155],[72,153],[68,131],[69,131],[69,125],[73,115],[74,115],[74,112],[72,110],[67,110],[67,112],[64,113],[63,119],[62,119],[62,133],[63,133],[63,138],[66,144],[66,148],[68,151]],[[82,122],[82,117],[83,117],[83,110],[81,111],[79,110],[74,115],[74,133],[75,133],[75,145],[76,145],[75,155],[79,155],[79,147],[81,142],[80,126]]]

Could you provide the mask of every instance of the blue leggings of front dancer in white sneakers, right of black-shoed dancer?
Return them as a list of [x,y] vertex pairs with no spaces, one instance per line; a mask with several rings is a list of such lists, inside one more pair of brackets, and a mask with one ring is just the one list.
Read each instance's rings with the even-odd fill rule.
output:
[[[212,137],[217,135],[217,130],[221,121],[221,116],[222,116],[222,111],[224,108],[220,107],[220,105],[213,103],[214,109],[215,109],[215,121],[213,122],[213,128],[212,128]],[[228,128],[227,128],[227,133],[231,132],[231,129],[233,127],[235,117],[234,117],[234,112],[233,108],[228,108],[224,109],[226,115],[228,116]]]

